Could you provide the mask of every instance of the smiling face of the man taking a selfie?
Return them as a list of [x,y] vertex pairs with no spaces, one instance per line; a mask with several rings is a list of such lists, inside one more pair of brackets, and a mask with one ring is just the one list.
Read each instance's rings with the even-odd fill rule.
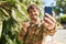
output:
[[29,10],[29,15],[32,20],[36,20],[38,18],[40,11],[34,8]]

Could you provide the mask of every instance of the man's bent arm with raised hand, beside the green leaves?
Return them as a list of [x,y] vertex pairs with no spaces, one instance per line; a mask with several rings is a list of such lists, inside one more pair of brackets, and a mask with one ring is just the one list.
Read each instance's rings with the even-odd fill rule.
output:
[[24,22],[22,24],[22,31],[18,35],[19,41],[23,41],[24,40],[24,35],[26,33],[26,29],[29,28],[29,25],[30,25],[29,22]]

